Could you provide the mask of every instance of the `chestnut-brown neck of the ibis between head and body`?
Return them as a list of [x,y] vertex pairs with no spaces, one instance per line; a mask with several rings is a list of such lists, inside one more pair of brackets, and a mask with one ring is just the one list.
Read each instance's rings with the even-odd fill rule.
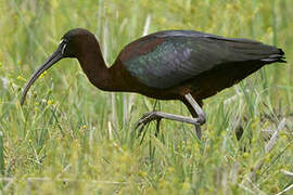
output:
[[[98,44],[98,42],[97,42]],[[118,91],[115,77],[104,62],[99,44],[77,56],[90,82],[104,91]]]

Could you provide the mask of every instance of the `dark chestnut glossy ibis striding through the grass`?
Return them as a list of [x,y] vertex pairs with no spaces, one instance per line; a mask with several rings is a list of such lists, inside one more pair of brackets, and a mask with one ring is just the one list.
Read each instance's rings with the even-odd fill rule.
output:
[[100,90],[140,93],[156,100],[181,101],[191,114],[160,110],[142,115],[140,130],[152,120],[191,123],[199,139],[206,122],[203,100],[229,88],[266,64],[285,63],[282,49],[244,38],[226,38],[195,30],[163,30],[127,44],[106,66],[99,41],[87,29],[74,28],[35,70],[25,86],[21,105],[37,78],[61,58],[77,58],[88,80]]

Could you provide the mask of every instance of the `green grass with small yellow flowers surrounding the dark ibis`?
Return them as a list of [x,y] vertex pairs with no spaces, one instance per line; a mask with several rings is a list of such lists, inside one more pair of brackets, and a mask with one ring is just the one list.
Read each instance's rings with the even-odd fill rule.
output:
[[[293,183],[281,171],[293,172],[291,18],[291,0],[0,0],[0,190],[5,194],[284,190]],[[27,79],[74,27],[97,35],[107,64],[143,32],[163,29],[257,39],[282,48],[289,63],[267,66],[205,100],[208,119],[201,142],[193,127],[167,120],[158,138],[152,123],[141,142],[132,133],[133,125],[155,101],[97,90],[76,60],[63,60],[48,70],[21,107]],[[189,115],[179,102],[161,101],[157,108]],[[276,131],[283,118],[286,127],[266,153],[266,132]],[[238,123],[244,129],[240,141],[234,133]]]

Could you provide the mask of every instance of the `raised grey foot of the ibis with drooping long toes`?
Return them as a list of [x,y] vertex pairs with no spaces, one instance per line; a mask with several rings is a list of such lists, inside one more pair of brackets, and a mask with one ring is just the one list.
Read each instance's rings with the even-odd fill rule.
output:
[[158,133],[158,128],[160,128],[160,121],[163,117],[158,116],[156,112],[149,112],[149,113],[144,113],[142,115],[142,117],[139,118],[139,120],[137,121],[136,128],[135,130],[137,130],[139,127],[139,132],[138,132],[138,136],[141,135],[141,132],[143,131],[144,127],[151,122],[152,120],[156,120],[157,121],[157,130],[156,130],[156,134]]

